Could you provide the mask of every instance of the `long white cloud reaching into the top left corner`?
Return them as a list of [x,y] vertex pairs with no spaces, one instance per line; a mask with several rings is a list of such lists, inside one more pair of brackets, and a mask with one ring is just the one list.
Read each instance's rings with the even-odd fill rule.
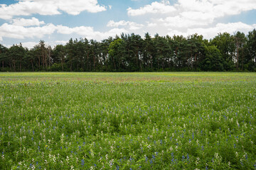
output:
[[0,18],[11,19],[13,16],[56,15],[65,11],[71,15],[78,15],[82,11],[97,13],[105,11],[105,6],[97,4],[97,0],[18,0],[18,3],[1,5]]

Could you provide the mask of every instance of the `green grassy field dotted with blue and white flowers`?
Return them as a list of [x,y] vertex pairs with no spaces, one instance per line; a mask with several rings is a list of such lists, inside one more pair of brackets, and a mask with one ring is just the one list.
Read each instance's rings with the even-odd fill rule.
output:
[[0,169],[256,169],[255,96],[255,73],[0,73]]

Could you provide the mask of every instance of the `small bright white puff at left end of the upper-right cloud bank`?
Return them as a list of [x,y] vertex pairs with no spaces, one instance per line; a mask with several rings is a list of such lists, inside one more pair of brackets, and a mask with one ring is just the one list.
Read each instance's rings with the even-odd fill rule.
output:
[[169,1],[155,1],[138,9],[127,8],[127,11],[129,16],[142,16],[147,13],[173,13],[176,11],[176,8],[171,6]]

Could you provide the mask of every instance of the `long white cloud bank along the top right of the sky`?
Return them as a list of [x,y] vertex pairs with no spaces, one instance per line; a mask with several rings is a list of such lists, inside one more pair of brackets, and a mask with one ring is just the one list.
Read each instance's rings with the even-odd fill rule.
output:
[[176,4],[171,5],[169,1],[154,1],[149,5],[141,8],[127,8],[130,16],[140,16],[147,13],[182,13],[196,11],[207,13],[213,18],[236,15],[242,11],[256,9],[255,0],[178,0]]

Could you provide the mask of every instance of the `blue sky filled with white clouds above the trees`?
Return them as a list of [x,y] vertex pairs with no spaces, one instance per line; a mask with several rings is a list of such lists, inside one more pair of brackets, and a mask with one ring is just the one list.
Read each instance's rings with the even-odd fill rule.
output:
[[255,0],[0,0],[0,44],[31,48],[65,45],[70,38],[104,40],[121,33],[144,37],[256,28]]

